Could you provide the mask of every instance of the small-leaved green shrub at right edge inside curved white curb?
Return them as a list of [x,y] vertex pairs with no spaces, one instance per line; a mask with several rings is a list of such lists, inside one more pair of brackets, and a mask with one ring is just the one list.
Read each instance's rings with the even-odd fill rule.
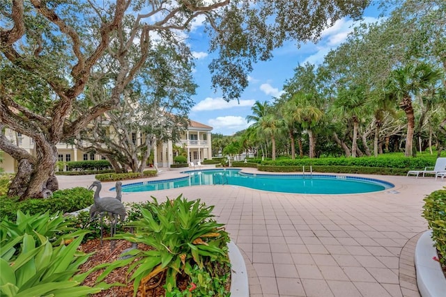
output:
[[441,255],[440,262],[446,266],[446,188],[427,195],[423,209],[422,216],[432,230],[432,239]]

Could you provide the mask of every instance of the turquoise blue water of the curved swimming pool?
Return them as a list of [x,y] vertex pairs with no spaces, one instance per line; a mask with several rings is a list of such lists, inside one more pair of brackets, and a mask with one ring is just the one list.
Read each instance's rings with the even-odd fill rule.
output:
[[346,175],[259,175],[240,169],[186,171],[188,177],[123,185],[123,192],[157,191],[182,186],[229,184],[263,191],[305,194],[353,194],[383,191],[394,185],[379,179]]

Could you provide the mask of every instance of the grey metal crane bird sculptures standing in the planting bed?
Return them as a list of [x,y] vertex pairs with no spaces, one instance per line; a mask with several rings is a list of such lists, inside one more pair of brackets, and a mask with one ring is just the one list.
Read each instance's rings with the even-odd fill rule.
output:
[[[123,221],[126,213],[125,213],[124,205],[118,199],[116,199],[114,197],[100,198],[99,193],[102,188],[102,185],[100,184],[100,182],[98,180],[96,180],[95,182],[93,182],[93,184],[91,184],[91,186],[89,187],[89,190],[91,190],[94,187],[96,188],[95,194],[94,194],[94,204],[91,207],[91,208],[94,207],[94,209],[93,209],[93,211],[92,211],[92,209],[90,209],[90,216],[92,218],[96,214],[98,214],[98,213],[100,214],[101,244],[102,244],[102,218],[103,218],[104,212],[107,212],[111,216],[111,219],[110,219],[111,220],[111,227],[110,227],[111,236],[113,236],[114,233],[116,232],[116,224],[118,223],[118,216],[120,217],[121,221]],[[121,191],[121,187],[120,187],[119,191]],[[118,194],[118,195],[120,195],[120,194]]]

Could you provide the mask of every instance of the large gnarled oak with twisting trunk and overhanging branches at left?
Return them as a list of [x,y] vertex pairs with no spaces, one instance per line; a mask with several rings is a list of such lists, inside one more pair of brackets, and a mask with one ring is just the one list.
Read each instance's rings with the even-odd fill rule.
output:
[[[33,138],[36,156],[8,143],[0,148],[19,164],[8,195],[42,197],[58,188],[56,143],[70,141],[92,120],[119,106],[155,45],[178,45],[182,33],[203,19],[210,36],[213,87],[235,99],[256,61],[272,57],[286,40],[317,40],[346,15],[360,17],[369,1],[1,1],[0,124]],[[130,31],[123,30],[130,28]],[[190,53],[185,52],[184,57]],[[113,61],[104,60],[113,56]],[[132,59],[129,59],[129,55]],[[98,77],[116,63],[112,77]],[[149,67],[152,67],[149,65]],[[107,96],[86,100],[91,81]],[[87,104],[88,103],[88,104]]]

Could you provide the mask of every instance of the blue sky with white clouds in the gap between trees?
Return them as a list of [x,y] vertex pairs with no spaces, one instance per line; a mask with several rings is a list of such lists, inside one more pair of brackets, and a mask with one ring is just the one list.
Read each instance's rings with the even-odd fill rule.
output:
[[[376,6],[367,8],[362,22],[378,21],[379,13]],[[211,57],[206,52],[207,40],[203,39],[203,35],[199,35],[199,30],[192,31],[189,40],[196,58],[194,79],[199,87],[197,95],[192,97],[194,106],[189,118],[213,127],[213,134],[230,136],[246,129],[252,125],[252,122],[248,123],[245,118],[247,115],[252,115],[251,107],[254,102],[274,101],[275,97],[281,95],[285,81],[293,77],[295,67],[307,62],[315,65],[322,63],[330,49],[335,49],[344,42],[348,33],[353,31],[353,26],[358,23],[349,18],[339,19],[334,26],[323,31],[322,38],[317,44],[309,42],[301,44],[298,48],[295,42],[286,42],[284,47],[275,49],[270,61],[254,65],[254,70],[249,74],[249,86],[238,102],[224,101],[221,93],[211,88],[208,70]]]

